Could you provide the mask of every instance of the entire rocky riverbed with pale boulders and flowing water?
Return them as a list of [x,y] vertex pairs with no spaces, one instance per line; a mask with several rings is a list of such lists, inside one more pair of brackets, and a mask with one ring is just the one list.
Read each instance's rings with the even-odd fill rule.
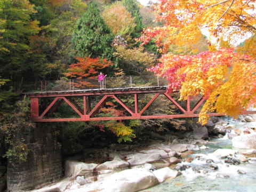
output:
[[[182,139],[175,135],[154,134],[155,140],[136,150],[119,145],[119,150],[105,154],[108,157],[106,162],[68,159],[65,179],[43,188],[38,186],[39,189],[33,191],[220,190],[214,186],[230,186],[241,179],[255,179],[256,123],[245,122],[256,121],[256,116],[241,116],[239,121],[214,120],[203,127],[195,126],[194,131],[186,133]],[[232,145],[246,149],[233,148]],[[223,187],[223,190],[230,188]],[[234,191],[250,190],[234,188]]]

